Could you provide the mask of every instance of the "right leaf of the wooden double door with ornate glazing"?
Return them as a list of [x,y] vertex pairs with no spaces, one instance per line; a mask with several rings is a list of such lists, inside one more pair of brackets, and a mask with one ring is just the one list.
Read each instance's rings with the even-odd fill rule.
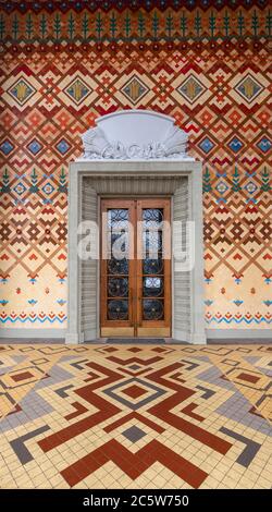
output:
[[156,336],[157,329],[157,336],[170,336],[170,200],[138,200],[137,221],[138,333]]

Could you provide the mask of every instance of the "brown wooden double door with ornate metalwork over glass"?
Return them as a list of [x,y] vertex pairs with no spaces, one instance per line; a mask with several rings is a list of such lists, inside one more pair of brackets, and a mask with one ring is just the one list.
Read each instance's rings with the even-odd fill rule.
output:
[[170,199],[102,199],[101,228],[101,337],[170,337]]

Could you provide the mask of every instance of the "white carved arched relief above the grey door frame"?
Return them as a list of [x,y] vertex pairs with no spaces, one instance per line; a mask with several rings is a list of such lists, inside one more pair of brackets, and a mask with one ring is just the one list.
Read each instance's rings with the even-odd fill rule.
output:
[[[133,120],[131,124],[127,124],[128,115]],[[122,117],[126,121],[126,124],[124,123],[123,139],[115,141],[113,138],[114,132],[122,135]],[[107,118],[111,118],[111,124],[108,127],[109,133],[107,133]],[[188,136],[186,132],[174,125],[174,119],[169,115],[150,111],[126,110],[99,118],[97,122],[103,125],[103,130],[96,126],[82,135],[83,158],[85,160],[190,159],[187,155]],[[116,130],[114,130],[114,122],[116,123]],[[157,124],[159,122],[162,127],[159,135],[160,141],[152,137],[152,131],[158,136],[156,122]],[[129,127],[129,134],[127,134],[127,127]],[[150,134],[150,139],[147,139],[147,133]],[[135,142],[132,138],[134,134]]]

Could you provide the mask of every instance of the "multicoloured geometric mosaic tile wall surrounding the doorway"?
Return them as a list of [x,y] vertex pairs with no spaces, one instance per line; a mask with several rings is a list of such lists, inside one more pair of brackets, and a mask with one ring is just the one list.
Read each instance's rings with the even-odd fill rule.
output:
[[2,326],[65,327],[67,163],[148,108],[203,161],[207,326],[269,327],[268,3],[1,2]]

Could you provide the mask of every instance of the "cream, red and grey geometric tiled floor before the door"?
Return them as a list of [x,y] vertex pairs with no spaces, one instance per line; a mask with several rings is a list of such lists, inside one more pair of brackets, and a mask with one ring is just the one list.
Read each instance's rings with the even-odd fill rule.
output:
[[272,345],[0,345],[0,488],[270,488]]

